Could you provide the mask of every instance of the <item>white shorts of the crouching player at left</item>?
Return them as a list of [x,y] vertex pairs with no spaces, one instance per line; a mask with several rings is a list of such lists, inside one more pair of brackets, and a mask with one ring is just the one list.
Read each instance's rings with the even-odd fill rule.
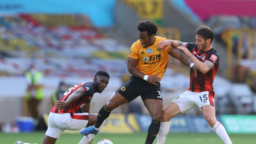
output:
[[[74,113],[76,114],[76,113]],[[79,113],[89,115],[89,113]],[[46,135],[52,138],[59,138],[64,130],[80,130],[87,126],[88,120],[74,119],[71,113],[50,113],[48,117],[48,128]]]

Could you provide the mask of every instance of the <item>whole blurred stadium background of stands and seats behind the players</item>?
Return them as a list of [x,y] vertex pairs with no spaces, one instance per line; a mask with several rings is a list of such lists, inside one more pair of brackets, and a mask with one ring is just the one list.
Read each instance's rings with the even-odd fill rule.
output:
[[[255,5],[256,0],[1,0],[0,114],[5,117],[0,122],[25,113],[24,74],[30,65],[44,75],[41,114],[51,110],[60,82],[70,86],[92,81],[98,70],[110,73],[106,90],[91,101],[91,112],[97,113],[130,76],[126,61],[141,20],[155,21],[158,36],[182,42],[195,42],[194,30],[210,26],[221,59],[214,80],[216,113],[255,114]],[[164,106],[188,89],[189,82],[189,68],[170,57],[161,82]],[[143,105],[140,98],[135,102]]]

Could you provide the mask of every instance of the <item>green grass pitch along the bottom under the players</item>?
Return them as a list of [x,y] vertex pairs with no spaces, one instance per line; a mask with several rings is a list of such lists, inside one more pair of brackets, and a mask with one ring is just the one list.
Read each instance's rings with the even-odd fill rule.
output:
[[[0,144],[14,144],[20,140],[27,143],[41,144],[45,132],[33,133],[0,133]],[[233,144],[253,144],[255,134],[229,134]],[[78,144],[82,135],[79,133],[63,133],[56,144]],[[143,144],[146,133],[137,134],[105,134],[99,133],[92,144],[101,139],[110,139],[114,144]],[[156,140],[153,144],[156,143]],[[166,144],[223,144],[222,140],[215,133],[170,133],[167,136]]]

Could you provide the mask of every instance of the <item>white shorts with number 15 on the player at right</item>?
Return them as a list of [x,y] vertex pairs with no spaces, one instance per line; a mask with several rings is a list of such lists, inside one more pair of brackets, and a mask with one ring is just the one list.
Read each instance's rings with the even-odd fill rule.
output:
[[180,107],[181,113],[186,113],[187,111],[191,110],[194,107],[201,107],[204,105],[214,105],[214,98],[209,96],[209,91],[203,92],[192,92],[186,90],[183,94],[177,96],[173,102],[177,103]]

